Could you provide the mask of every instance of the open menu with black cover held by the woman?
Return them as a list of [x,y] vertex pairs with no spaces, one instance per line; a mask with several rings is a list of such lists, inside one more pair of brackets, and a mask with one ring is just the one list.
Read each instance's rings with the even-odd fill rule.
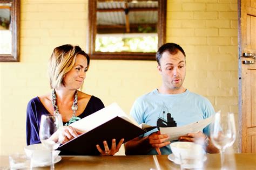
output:
[[96,145],[98,144],[100,148],[104,149],[104,140],[111,147],[112,139],[116,139],[117,144],[120,139],[124,138],[125,143],[157,128],[132,122],[117,103],[86,116],[70,126],[84,133],[59,146],[60,155],[98,155],[100,153]]

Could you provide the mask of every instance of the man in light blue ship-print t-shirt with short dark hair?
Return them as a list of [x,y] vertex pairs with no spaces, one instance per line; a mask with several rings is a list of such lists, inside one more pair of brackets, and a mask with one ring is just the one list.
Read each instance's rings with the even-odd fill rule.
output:
[[[214,109],[207,98],[191,93],[183,87],[186,75],[186,61],[183,48],[174,43],[167,43],[158,49],[156,59],[162,84],[158,89],[139,97],[133,104],[131,116],[140,124],[172,127],[197,122],[214,114]],[[167,134],[154,130],[144,136],[125,143],[125,153],[130,154],[170,154],[170,141]],[[204,132],[204,133],[203,133]],[[188,133],[179,137],[180,141],[204,141],[205,150],[217,153],[208,138],[210,127],[203,132]]]

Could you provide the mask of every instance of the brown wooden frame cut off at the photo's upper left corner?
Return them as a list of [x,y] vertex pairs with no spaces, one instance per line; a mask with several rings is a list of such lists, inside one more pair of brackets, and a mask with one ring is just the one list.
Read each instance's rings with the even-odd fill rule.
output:
[[11,22],[10,28],[12,30],[12,49],[11,54],[0,54],[1,62],[17,62],[19,61],[19,21],[20,21],[20,1],[15,0],[1,0],[0,3],[11,3],[10,8]]

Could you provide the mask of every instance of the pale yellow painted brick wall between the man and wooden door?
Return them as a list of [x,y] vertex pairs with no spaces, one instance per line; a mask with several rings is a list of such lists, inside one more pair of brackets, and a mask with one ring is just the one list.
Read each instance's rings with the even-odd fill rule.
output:
[[180,44],[187,55],[185,87],[207,97],[215,111],[234,112],[237,119],[237,1],[167,3],[167,41]]

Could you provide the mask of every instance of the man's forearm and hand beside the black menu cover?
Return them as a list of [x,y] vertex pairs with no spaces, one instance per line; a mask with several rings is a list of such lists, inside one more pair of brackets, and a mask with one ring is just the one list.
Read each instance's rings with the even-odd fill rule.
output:
[[144,155],[150,150],[156,149],[158,154],[161,154],[160,147],[170,144],[166,141],[167,134],[160,134],[160,131],[151,133],[146,137],[137,137],[124,144],[126,155]]

